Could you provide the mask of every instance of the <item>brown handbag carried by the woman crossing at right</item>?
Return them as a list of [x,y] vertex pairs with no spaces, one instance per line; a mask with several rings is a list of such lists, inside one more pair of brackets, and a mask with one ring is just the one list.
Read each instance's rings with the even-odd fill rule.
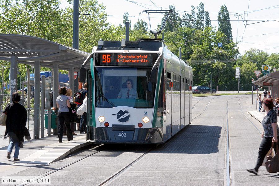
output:
[[276,145],[277,145],[276,152],[275,152],[275,155],[272,157],[271,153],[272,153],[272,148],[274,146],[274,142],[272,142],[271,148],[269,150],[269,156],[267,157],[267,162],[265,162],[266,170],[269,173],[279,172],[279,149],[278,149],[278,143],[276,143]]

